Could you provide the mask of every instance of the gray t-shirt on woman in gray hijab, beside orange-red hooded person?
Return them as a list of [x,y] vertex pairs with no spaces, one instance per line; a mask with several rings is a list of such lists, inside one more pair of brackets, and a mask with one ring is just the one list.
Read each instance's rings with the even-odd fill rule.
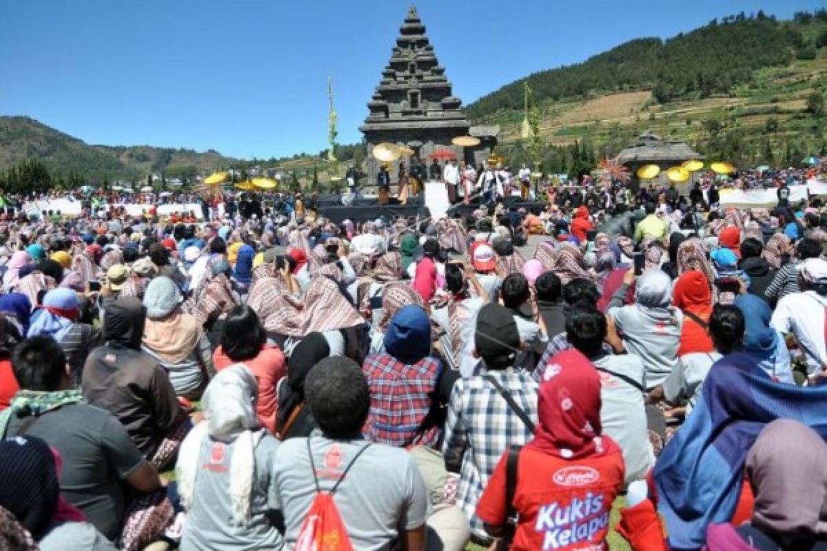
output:
[[[623,336],[629,354],[637,354],[646,369],[646,389],[652,390],[672,373],[681,344],[683,314],[672,308],[672,316],[653,317],[637,304],[617,306],[606,312]],[[660,314],[661,312],[658,312]]]

